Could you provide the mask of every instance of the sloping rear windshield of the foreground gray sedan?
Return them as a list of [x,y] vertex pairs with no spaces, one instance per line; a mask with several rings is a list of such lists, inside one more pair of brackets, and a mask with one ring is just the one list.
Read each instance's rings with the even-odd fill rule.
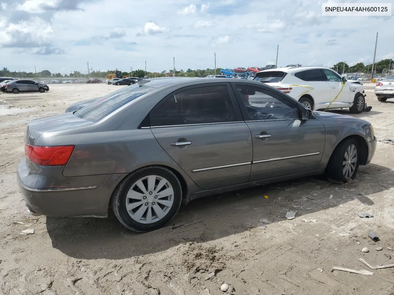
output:
[[74,112],[74,115],[84,120],[97,122],[126,103],[154,90],[156,89],[153,87],[141,86],[138,84],[125,87],[103,96],[92,104]]

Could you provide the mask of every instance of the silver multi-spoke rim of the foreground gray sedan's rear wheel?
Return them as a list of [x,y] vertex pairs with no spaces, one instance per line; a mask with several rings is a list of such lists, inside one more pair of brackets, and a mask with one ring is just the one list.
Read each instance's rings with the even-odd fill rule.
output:
[[132,185],[126,196],[126,210],[139,223],[164,218],[174,203],[174,190],[164,177],[149,175]]

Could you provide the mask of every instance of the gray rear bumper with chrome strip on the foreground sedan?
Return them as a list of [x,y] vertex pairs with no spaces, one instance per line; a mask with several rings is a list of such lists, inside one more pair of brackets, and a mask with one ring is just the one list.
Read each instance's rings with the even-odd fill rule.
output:
[[[33,215],[107,217],[113,190],[123,178],[119,174],[63,177],[48,173],[57,167],[42,166],[40,175],[30,173],[26,159],[19,162],[19,190]],[[45,171],[48,167],[49,171]],[[44,175],[49,175],[45,177]],[[63,185],[60,185],[63,184]]]

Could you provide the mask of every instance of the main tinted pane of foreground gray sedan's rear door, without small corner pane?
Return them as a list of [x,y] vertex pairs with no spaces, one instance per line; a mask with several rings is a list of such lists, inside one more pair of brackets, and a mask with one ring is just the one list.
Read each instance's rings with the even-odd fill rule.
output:
[[182,124],[208,124],[236,121],[227,86],[206,86],[175,95]]

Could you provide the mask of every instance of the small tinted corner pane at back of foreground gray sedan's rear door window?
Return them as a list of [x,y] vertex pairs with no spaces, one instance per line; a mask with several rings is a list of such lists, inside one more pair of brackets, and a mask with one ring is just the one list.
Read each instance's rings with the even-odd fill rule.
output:
[[180,125],[180,117],[175,98],[171,96],[155,107],[151,113],[151,120],[154,126]]

